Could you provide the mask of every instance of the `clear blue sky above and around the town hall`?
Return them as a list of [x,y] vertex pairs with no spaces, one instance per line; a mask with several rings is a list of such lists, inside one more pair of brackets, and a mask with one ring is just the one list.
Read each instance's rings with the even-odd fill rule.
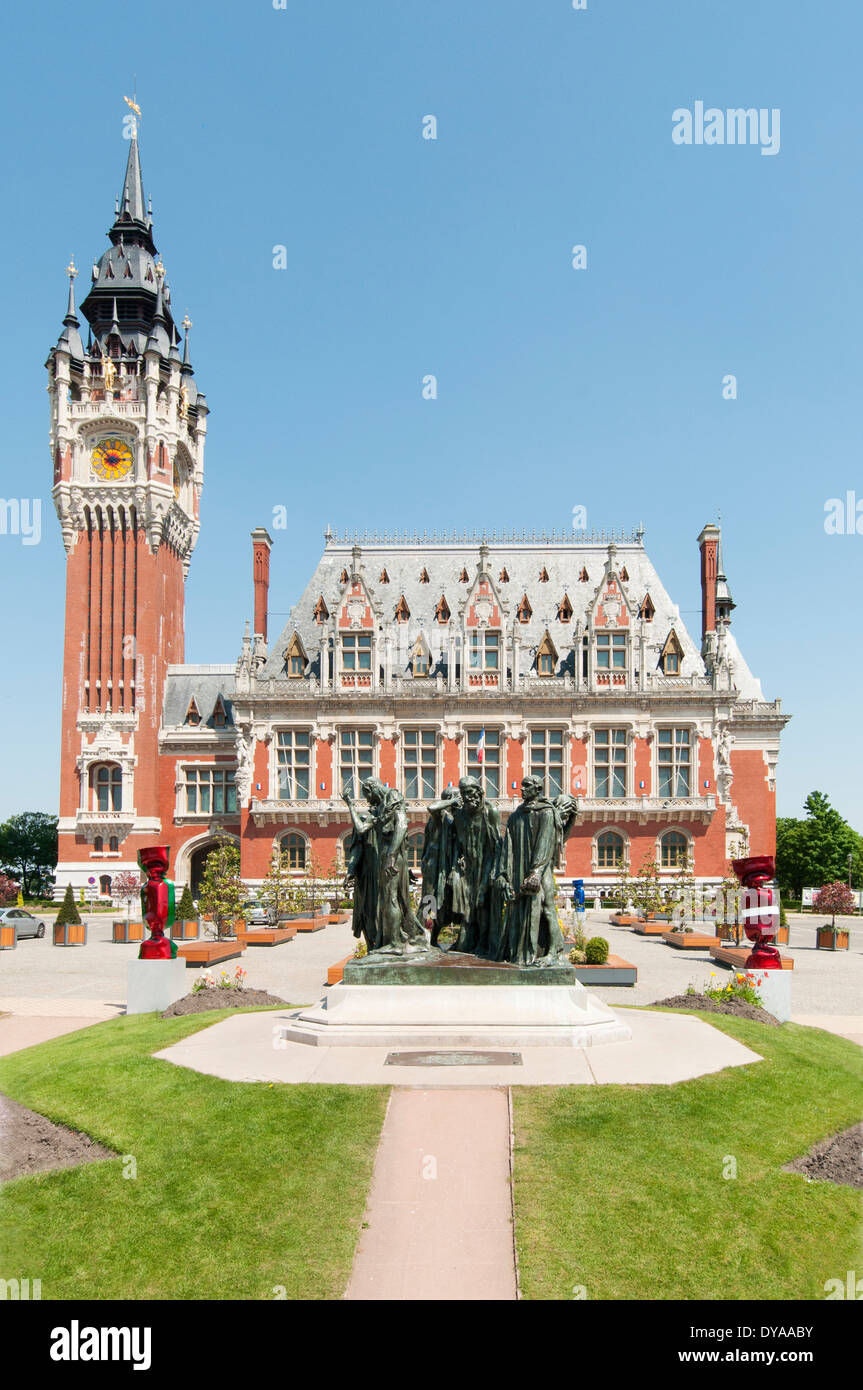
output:
[[[863,830],[863,535],[824,530],[830,498],[863,502],[856,0],[49,0],[4,40],[0,495],[42,500],[42,538],[0,535],[0,816],[57,809],[43,363],[69,254],[81,286],[107,246],[136,83],[211,409],[186,659],[235,660],[249,531],[281,505],[275,631],[328,523],[566,528],[584,505],[643,521],[696,638],[721,509],[738,642],[794,714],[780,813],[819,787]],[[778,108],[778,153],[677,145],[696,101]]]

